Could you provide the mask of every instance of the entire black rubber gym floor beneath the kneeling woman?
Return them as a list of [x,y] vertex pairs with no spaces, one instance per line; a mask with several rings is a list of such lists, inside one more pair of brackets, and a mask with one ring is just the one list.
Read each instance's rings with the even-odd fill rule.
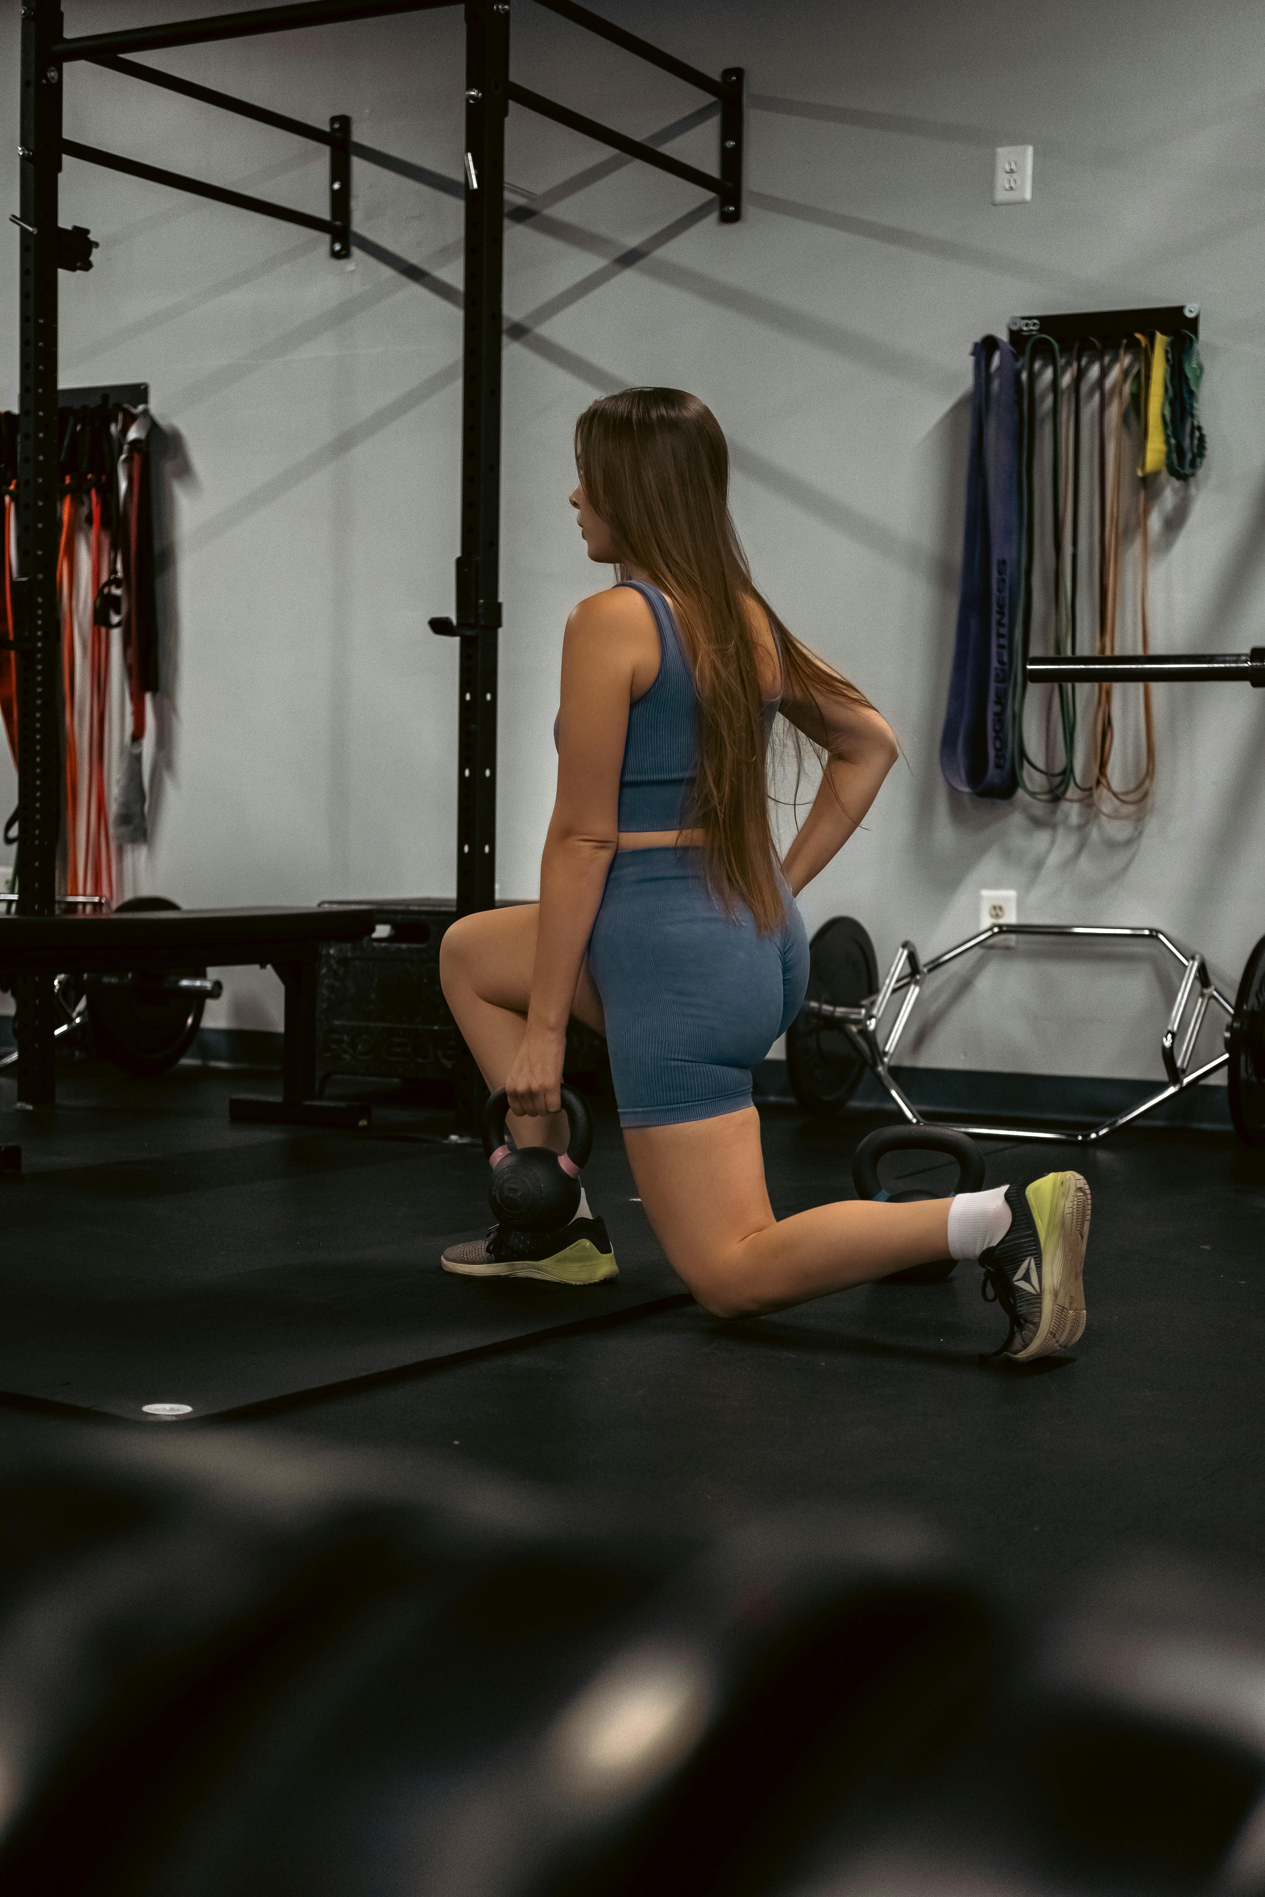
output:
[[[1085,1339],[1015,1370],[981,1362],[1005,1326],[969,1265],[709,1318],[632,1203],[613,1117],[586,1184],[618,1286],[449,1279],[440,1246],[484,1224],[478,1151],[404,1110],[368,1134],[231,1127],[239,1087],[76,1066],[55,1112],[19,1114],[0,1081],[0,1138],[25,1150],[0,1186],[0,1430],[95,1413],[440,1449],[692,1529],[791,1501],[901,1504],[1024,1597],[1121,1544],[1265,1556],[1265,1153],[1229,1134],[994,1142],[990,1184],[1079,1165],[1094,1193]],[[869,1125],[768,1108],[776,1208],[850,1195]],[[952,1180],[914,1155],[903,1170]],[[150,1423],[146,1402],[195,1415]]]

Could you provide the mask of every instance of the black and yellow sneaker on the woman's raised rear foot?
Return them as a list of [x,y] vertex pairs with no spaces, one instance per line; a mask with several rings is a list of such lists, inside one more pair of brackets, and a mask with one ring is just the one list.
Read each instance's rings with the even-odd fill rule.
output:
[[1085,1244],[1089,1243],[1089,1186],[1079,1172],[1047,1172],[1005,1188],[1011,1229],[981,1252],[981,1294],[996,1299],[1009,1320],[994,1356],[1030,1364],[1085,1330]]

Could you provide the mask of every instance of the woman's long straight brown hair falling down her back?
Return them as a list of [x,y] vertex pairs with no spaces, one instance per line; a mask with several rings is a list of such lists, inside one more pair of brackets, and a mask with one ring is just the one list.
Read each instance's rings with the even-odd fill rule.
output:
[[698,691],[698,776],[688,825],[702,829],[707,880],[732,912],[778,928],[783,895],[768,814],[764,692],[755,599],[781,658],[783,692],[869,698],[800,645],[751,580],[728,512],[728,444],[685,389],[603,395],[575,425],[580,484],[611,529],[620,571],[639,567],[668,594]]

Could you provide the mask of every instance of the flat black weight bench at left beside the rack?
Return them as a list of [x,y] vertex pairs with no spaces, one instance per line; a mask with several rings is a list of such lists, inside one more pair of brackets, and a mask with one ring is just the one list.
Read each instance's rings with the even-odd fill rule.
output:
[[[374,911],[368,907],[6,916],[0,918],[0,969],[13,981],[27,975],[271,967],[286,994],[281,1098],[237,1095],[229,1100],[229,1117],[294,1127],[366,1127],[368,1106],[315,1098],[317,979],[322,943],[355,943],[372,933]],[[21,1059],[17,1072],[21,1095]]]

